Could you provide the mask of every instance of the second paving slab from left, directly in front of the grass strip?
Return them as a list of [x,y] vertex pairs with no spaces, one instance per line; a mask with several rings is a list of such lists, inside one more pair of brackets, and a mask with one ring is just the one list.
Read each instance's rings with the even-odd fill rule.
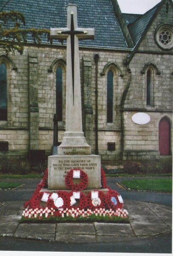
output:
[[91,234],[95,235],[94,224],[90,223],[60,223],[57,224],[57,233]]

